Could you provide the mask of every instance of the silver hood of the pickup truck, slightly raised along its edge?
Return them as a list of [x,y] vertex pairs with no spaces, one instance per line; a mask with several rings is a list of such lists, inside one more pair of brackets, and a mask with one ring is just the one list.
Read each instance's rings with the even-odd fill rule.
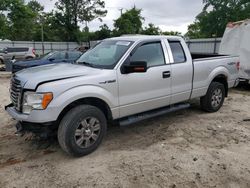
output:
[[50,64],[24,69],[15,74],[22,87],[35,89],[39,83],[69,79],[79,76],[98,75],[101,69],[77,64]]

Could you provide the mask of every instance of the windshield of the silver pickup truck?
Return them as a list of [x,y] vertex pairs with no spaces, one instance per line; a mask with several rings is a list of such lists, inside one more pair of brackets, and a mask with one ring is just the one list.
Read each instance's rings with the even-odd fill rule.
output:
[[103,41],[83,54],[76,63],[96,68],[113,69],[131,45],[131,41]]

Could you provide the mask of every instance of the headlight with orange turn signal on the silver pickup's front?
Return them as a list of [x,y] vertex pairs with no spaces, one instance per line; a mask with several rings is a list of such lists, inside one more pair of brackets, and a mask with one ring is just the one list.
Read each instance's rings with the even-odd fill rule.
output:
[[53,99],[53,93],[25,92],[23,96],[23,113],[30,114],[32,110],[44,110]]

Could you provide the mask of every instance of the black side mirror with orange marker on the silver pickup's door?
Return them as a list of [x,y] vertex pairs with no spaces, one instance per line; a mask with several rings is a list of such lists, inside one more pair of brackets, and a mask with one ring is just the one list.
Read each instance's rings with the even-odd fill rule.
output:
[[143,73],[147,72],[147,62],[145,61],[133,61],[128,65],[124,65],[122,69],[123,74],[129,73]]

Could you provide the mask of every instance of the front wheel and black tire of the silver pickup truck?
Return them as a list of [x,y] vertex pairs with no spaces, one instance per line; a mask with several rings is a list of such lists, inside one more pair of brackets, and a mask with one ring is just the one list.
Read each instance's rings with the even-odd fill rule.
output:
[[[93,119],[97,120],[95,122],[96,123],[95,127],[98,126],[100,127],[98,134],[97,132],[94,132],[94,128],[92,129],[93,132],[90,133],[91,122],[87,122],[88,118],[90,118],[89,121],[92,121]],[[88,125],[89,128],[86,128],[87,127],[86,125]],[[60,122],[57,137],[61,148],[65,152],[76,157],[81,157],[92,153],[94,150],[98,148],[98,146],[101,144],[103,140],[103,137],[106,134],[106,130],[107,130],[107,120],[101,110],[90,105],[80,105],[71,109],[64,116],[64,118]],[[79,136],[78,138],[77,134],[79,133],[79,131],[81,132],[80,133],[81,136],[78,135]],[[94,137],[92,138],[90,134],[92,135],[95,134],[95,139]],[[96,137],[96,135],[98,135],[98,137]],[[77,144],[79,140],[80,142],[78,143],[81,143],[81,139],[84,139],[82,141],[82,144],[84,146],[82,144],[80,144],[81,146]],[[91,143],[91,140],[93,141],[93,143],[87,146],[88,144]]]

